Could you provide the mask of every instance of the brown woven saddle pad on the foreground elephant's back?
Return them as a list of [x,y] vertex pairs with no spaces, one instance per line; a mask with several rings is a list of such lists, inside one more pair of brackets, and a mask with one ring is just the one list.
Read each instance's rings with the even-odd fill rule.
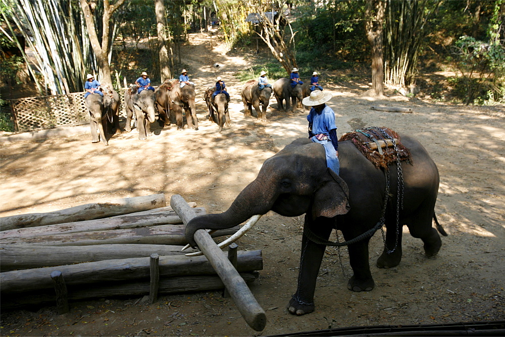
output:
[[[397,151],[392,146],[393,139]],[[345,140],[350,140],[356,145],[361,153],[377,168],[387,170],[388,166],[395,163],[397,158],[400,161],[408,160],[412,162],[409,149],[401,144],[398,134],[389,128],[371,127],[352,131],[343,134],[339,142]],[[378,147],[380,147],[380,150]]]

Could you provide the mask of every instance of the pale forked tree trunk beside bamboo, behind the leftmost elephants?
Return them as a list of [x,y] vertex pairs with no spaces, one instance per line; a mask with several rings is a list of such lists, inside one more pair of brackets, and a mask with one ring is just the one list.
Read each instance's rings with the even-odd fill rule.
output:
[[[111,4],[110,0],[104,0],[104,15],[102,17],[102,42],[98,40],[97,29],[95,27],[95,8],[97,0],[80,0],[81,9],[84,13],[86,27],[88,30],[91,47],[98,63],[100,83],[112,88],[111,68],[109,65],[109,53],[112,48],[112,34],[110,34],[110,22],[112,14],[124,4],[125,0],[117,0]],[[97,20],[99,18],[96,18]]]

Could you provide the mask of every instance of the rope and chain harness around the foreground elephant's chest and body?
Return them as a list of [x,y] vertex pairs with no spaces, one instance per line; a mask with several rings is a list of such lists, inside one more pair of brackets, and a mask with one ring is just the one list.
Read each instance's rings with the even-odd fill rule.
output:
[[[365,131],[368,131],[368,132],[365,132]],[[391,142],[393,144],[394,151],[398,152],[398,148],[397,148],[397,144],[396,144],[395,140],[383,128],[370,127],[370,128],[365,129],[365,131],[356,130],[355,132],[362,133],[363,135],[367,136],[372,141],[374,141],[377,144],[377,150],[380,155],[383,155],[383,151],[382,151],[381,146],[378,142],[379,139],[391,140]],[[382,232],[382,240],[384,241],[384,247],[386,248],[387,253],[388,254],[393,253],[396,250],[396,248],[398,247],[398,237],[399,237],[399,231],[400,231],[399,214],[400,214],[400,208],[403,208],[403,191],[404,191],[403,190],[403,173],[401,171],[399,156],[396,156],[396,171],[397,171],[397,177],[398,177],[398,184],[397,184],[397,188],[396,188],[396,195],[397,195],[397,197],[396,197],[396,240],[395,240],[395,244],[394,244],[393,249],[390,250],[387,248],[386,238],[384,236],[384,230],[383,230],[383,226],[385,226],[385,221],[386,221],[386,218],[385,218],[386,207],[387,207],[387,203],[389,201],[389,191],[390,191],[389,168],[383,170],[384,178],[386,180],[386,188],[384,191],[384,204],[382,207],[381,217],[373,228],[371,228],[367,232],[357,236],[356,238],[345,241],[345,242],[332,242],[332,241],[328,241],[323,238],[320,238],[319,236],[317,236],[316,234],[314,234],[314,232],[312,232],[310,230],[309,226],[304,226],[304,235],[306,235],[309,240],[313,241],[314,243],[320,244],[320,245],[326,245],[326,246],[332,246],[332,247],[342,247],[342,246],[348,246],[348,245],[357,243],[361,240],[367,239],[367,238],[373,236],[374,233],[380,229]]]

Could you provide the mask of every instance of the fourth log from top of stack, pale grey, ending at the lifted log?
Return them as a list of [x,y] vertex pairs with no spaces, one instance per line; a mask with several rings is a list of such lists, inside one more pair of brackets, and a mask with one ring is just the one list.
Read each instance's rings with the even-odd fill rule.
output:
[[111,244],[94,246],[36,246],[3,245],[0,248],[0,271],[52,267],[91,261],[129,259],[147,257],[151,253],[159,255],[184,255],[182,246]]

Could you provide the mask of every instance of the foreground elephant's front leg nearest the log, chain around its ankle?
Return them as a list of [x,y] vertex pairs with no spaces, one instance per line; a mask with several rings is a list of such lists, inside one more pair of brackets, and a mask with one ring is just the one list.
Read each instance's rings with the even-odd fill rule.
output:
[[[332,219],[318,218],[317,226],[311,226],[314,234],[328,239],[332,230]],[[311,220],[305,216],[304,226],[310,226]],[[312,222],[314,223],[314,222]],[[303,236],[301,240],[300,270],[298,273],[298,287],[289,301],[288,310],[293,315],[305,315],[314,311],[314,292],[316,290],[317,275],[323,260],[325,245],[319,245]]]

